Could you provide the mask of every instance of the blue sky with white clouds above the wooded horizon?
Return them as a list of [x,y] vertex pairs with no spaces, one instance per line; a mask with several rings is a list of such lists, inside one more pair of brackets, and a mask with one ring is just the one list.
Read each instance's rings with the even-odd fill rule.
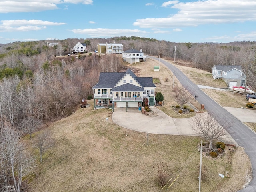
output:
[[256,0],[0,0],[0,43],[140,36],[256,40]]

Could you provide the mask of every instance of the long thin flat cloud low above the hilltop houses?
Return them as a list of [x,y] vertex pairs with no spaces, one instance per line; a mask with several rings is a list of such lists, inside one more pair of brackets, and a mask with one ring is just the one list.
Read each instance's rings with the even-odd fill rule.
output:
[[93,37],[99,36],[142,36],[147,34],[146,31],[138,29],[73,29],[71,30],[75,34],[87,34]]

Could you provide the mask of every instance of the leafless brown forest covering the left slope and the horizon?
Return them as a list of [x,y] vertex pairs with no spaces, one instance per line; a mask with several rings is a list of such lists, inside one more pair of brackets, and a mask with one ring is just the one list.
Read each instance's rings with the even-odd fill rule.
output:
[[[241,65],[246,84],[256,90],[256,42],[174,43],[140,37],[58,40],[0,44],[0,190],[20,191],[35,159],[20,140],[46,122],[70,115],[82,98],[92,97],[100,72],[119,72],[126,67],[115,54],[97,55],[98,43],[122,43],[123,50],[137,49],[176,64],[211,72],[214,65]],[[77,42],[86,43],[87,56],[59,57],[72,52]],[[7,190],[6,190],[7,191]]]

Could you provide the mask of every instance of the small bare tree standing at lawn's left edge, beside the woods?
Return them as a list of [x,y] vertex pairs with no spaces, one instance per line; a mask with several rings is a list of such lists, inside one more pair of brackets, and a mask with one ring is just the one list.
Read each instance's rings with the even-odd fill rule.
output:
[[54,140],[51,137],[51,132],[50,130],[43,130],[42,132],[40,132],[35,140],[34,140],[34,146],[35,148],[37,148],[39,150],[39,154],[40,154],[40,163],[42,163],[42,155],[45,152],[45,150],[47,150],[48,148],[50,148],[53,145]]

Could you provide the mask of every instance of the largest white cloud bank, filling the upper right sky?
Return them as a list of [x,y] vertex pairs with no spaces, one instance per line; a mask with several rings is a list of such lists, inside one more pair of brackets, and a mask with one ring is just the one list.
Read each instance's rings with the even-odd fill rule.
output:
[[256,1],[252,0],[206,0],[186,3],[164,2],[179,11],[166,18],[137,19],[134,26],[141,28],[172,28],[256,21]]

